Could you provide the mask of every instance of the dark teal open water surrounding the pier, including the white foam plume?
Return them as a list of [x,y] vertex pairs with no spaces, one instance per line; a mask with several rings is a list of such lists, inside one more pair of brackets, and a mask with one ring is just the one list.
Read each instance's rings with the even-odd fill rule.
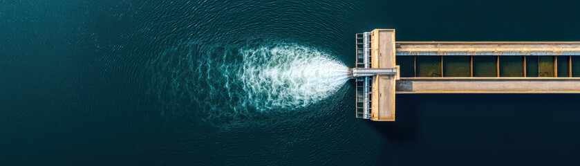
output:
[[355,33],[578,41],[576,2],[0,1],[0,165],[562,165],[573,94],[397,95],[355,119]]

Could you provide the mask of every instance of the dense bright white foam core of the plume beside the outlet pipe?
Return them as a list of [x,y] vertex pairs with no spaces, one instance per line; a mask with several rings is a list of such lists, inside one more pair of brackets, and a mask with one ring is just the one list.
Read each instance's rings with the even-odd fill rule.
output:
[[279,45],[241,51],[238,78],[247,95],[243,105],[258,110],[306,107],[344,84],[348,68],[315,49]]

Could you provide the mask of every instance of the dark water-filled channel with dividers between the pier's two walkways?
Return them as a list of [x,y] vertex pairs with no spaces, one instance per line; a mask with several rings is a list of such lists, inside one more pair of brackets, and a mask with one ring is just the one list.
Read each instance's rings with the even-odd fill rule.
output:
[[[514,58],[516,56],[511,55],[412,56],[404,62],[412,65],[405,69],[407,74],[404,77],[580,77],[580,56],[528,55]],[[515,61],[518,62],[514,64]],[[495,65],[495,71],[492,65]]]

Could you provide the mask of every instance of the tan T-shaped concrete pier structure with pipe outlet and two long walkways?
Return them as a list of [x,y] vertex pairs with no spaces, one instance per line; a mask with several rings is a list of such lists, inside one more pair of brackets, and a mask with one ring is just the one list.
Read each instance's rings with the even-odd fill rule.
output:
[[580,93],[580,42],[395,42],[356,34],[356,118],[395,121],[401,93]]

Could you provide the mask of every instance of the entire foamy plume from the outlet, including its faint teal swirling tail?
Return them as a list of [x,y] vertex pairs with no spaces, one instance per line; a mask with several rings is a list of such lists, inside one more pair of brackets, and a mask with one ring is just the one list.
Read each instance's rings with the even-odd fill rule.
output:
[[[348,80],[348,67],[298,44],[207,46],[188,43],[151,61],[151,93],[162,114],[229,122],[308,107]],[[193,110],[193,111],[191,111]]]

